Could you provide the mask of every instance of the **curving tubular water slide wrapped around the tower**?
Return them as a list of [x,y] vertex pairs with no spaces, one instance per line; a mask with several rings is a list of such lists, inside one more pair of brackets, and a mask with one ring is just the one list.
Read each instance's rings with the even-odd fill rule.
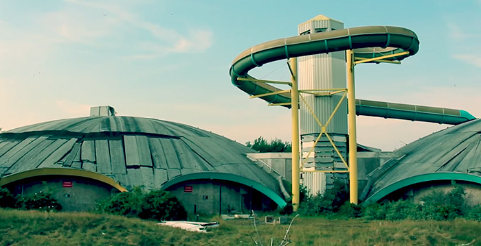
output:
[[[276,60],[348,49],[353,49],[355,58],[359,60],[399,54],[383,60],[401,61],[418,52],[419,40],[410,29],[389,26],[353,27],[271,40],[243,51],[234,59],[230,67],[232,84],[249,95],[273,93],[281,89],[256,82],[257,79],[248,75],[248,72]],[[291,102],[289,93],[260,98],[269,103]],[[356,100],[356,114],[451,125],[476,119],[464,110],[361,99]]]

